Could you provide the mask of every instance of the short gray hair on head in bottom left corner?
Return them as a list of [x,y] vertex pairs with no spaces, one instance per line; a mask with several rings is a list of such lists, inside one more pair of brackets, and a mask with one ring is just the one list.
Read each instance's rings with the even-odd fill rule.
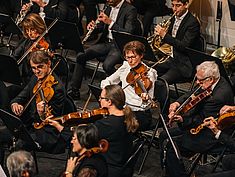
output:
[[7,169],[11,177],[21,177],[27,171],[32,177],[35,172],[33,156],[27,151],[16,151],[7,158]]

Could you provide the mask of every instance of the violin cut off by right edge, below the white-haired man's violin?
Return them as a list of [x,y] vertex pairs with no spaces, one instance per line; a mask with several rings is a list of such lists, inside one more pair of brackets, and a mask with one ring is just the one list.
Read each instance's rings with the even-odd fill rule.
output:
[[[235,124],[235,111],[229,112],[221,115],[220,117],[216,118],[215,121],[217,121],[217,127],[220,130],[223,130],[225,128],[231,127],[233,124]],[[196,128],[191,128],[190,133],[193,135],[198,134],[205,126],[207,125],[207,122],[203,122]]]

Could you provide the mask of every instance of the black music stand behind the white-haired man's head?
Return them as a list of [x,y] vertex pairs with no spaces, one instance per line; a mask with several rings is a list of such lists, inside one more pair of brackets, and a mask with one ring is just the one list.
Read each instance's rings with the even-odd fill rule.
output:
[[191,48],[186,48],[186,52],[193,66],[197,66],[204,61],[214,61],[219,66],[220,75],[223,76],[232,86],[221,59]]

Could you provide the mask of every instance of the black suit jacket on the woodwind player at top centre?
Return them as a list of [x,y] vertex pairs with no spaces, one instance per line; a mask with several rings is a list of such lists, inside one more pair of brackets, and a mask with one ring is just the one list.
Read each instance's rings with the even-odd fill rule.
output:
[[[108,6],[105,10],[105,14],[110,15],[111,7]],[[124,2],[118,12],[117,20],[113,24],[111,30],[127,32],[131,34],[139,34],[140,27],[137,20],[137,10],[134,6],[127,2]],[[98,42],[103,42],[107,39],[108,25],[99,23],[94,33],[102,32],[101,38]]]

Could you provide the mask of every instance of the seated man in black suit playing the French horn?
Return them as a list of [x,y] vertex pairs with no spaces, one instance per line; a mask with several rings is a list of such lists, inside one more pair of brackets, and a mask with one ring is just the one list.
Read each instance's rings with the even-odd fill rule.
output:
[[171,45],[173,53],[168,61],[157,66],[159,76],[169,84],[189,80],[193,76],[193,68],[185,48],[199,50],[200,24],[196,17],[188,11],[188,0],[172,0],[175,17],[171,19],[168,30],[160,25],[155,33],[162,38],[162,43]]

